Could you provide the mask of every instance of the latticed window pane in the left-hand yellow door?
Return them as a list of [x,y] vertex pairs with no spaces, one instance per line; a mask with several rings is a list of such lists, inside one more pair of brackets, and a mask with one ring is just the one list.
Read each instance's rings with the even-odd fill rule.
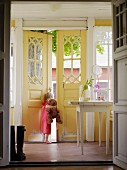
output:
[[29,37],[28,47],[28,78],[30,84],[42,84],[43,70],[43,39]]

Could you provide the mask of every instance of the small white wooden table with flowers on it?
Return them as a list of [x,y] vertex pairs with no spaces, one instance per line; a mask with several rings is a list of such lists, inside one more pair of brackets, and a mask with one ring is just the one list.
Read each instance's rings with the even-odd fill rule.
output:
[[81,153],[83,155],[83,113],[84,112],[99,112],[99,146],[101,146],[101,134],[102,134],[102,112],[106,112],[106,154],[109,151],[109,127],[110,127],[110,111],[112,109],[112,101],[69,101],[69,104],[76,106],[76,118],[77,118],[77,144],[79,145],[79,131],[81,141]]

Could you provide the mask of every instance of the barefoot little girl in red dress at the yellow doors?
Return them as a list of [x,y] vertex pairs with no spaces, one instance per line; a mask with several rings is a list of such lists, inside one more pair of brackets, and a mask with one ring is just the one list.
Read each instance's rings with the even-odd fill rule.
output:
[[42,119],[41,119],[41,130],[44,134],[44,142],[47,144],[50,144],[48,137],[51,134],[51,124],[48,124],[48,113],[46,111],[46,105],[47,101],[49,99],[53,98],[53,95],[51,93],[51,89],[44,95],[44,102],[42,103]]

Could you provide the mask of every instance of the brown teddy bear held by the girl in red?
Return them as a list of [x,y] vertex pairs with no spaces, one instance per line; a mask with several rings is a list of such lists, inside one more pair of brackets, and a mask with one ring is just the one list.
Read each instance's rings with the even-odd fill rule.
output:
[[48,112],[48,124],[53,122],[56,118],[56,122],[62,124],[62,120],[59,115],[59,110],[57,109],[57,101],[53,98],[47,101],[46,111]]

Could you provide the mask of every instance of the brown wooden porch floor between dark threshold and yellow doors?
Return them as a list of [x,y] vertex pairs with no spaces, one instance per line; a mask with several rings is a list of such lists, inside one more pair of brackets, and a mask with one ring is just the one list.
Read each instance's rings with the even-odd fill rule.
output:
[[50,162],[50,161],[112,161],[112,143],[109,154],[106,155],[105,142],[99,147],[98,142],[85,142],[84,155],[77,143],[25,143],[23,162]]

